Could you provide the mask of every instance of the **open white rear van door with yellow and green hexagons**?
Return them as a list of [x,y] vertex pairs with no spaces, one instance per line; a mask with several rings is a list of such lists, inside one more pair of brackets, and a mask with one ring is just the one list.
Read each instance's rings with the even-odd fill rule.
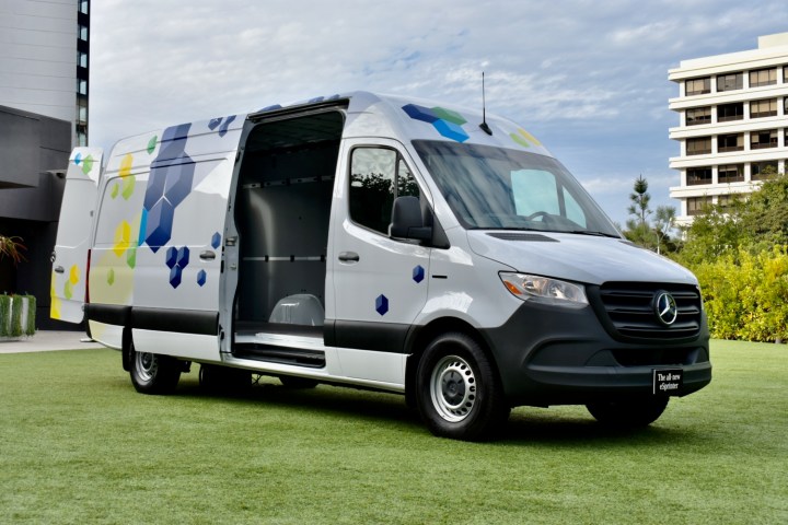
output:
[[49,316],[81,323],[88,283],[88,252],[99,192],[103,150],[76,148],[66,172],[57,240],[53,252]]

